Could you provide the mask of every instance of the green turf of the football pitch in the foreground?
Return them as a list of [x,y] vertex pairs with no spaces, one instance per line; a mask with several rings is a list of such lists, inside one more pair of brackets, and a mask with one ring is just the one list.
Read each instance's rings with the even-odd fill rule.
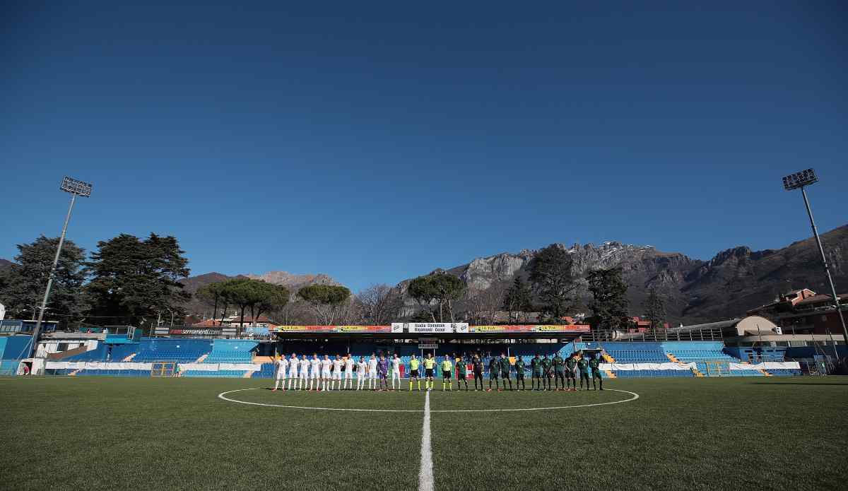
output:
[[[424,393],[273,393],[270,380],[0,379],[0,488],[419,486]],[[408,387],[408,385],[404,385]],[[836,489],[848,378],[627,379],[628,393],[430,396],[434,488]]]

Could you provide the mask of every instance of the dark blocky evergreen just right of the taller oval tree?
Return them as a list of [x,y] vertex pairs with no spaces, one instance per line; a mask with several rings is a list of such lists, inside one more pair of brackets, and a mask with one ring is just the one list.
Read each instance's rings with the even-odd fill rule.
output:
[[594,270],[587,276],[592,293],[595,326],[622,329],[628,325],[628,284],[622,278],[622,268]]

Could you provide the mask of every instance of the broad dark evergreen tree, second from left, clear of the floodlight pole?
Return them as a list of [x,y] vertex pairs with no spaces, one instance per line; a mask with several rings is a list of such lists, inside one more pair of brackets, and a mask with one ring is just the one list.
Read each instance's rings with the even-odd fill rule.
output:
[[108,316],[101,323],[139,326],[163,310],[182,313],[191,298],[179,282],[189,274],[184,253],[175,237],[153,233],[144,240],[120,234],[99,242],[86,289],[95,315]]

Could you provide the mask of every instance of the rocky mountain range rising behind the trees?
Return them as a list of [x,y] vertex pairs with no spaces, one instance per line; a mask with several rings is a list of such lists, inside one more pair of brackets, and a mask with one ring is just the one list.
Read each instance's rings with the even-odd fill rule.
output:
[[[823,247],[839,293],[848,291],[848,225],[840,226],[822,236]],[[767,304],[779,294],[801,287],[817,293],[828,293],[821,257],[815,240],[789,244],[779,249],[753,251],[748,247],[728,248],[710,260],[692,259],[681,253],[662,252],[648,245],[629,245],[618,242],[594,244],[557,244],[572,254],[572,271],[583,278],[591,270],[621,266],[628,282],[631,315],[642,314],[642,304],[651,287],[666,301],[668,321],[673,324],[695,324],[719,321],[739,315],[746,310]],[[516,254],[503,253],[472,259],[445,271],[460,277],[469,287],[485,289],[495,282],[511,282],[515,276],[526,278],[534,250]],[[0,270],[11,263],[0,259]],[[295,275],[286,271],[239,275],[281,284],[296,292],[313,283],[340,284],[324,274]],[[190,276],[183,281],[186,290],[194,293],[199,287],[220,282],[229,277],[217,272]],[[397,285],[406,292],[409,280]],[[578,281],[577,294],[583,304],[589,301],[585,280]],[[410,308],[414,305],[406,298]],[[187,310],[201,313],[208,307],[192,299]],[[588,312],[587,312],[588,313]]]

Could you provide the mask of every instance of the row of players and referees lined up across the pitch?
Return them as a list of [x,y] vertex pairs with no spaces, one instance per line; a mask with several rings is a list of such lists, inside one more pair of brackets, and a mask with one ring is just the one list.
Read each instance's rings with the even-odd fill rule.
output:
[[[454,362],[456,363],[456,388],[460,390],[461,384],[465,384],[466,391],[468,388],[468,374],[471,365],[471,373],[474,378],[474,390],[483,390],[483,359],[475,354],[469,363],[464,356],[453,357],[445,355],[444,360],[440,364],[442,369],[442,390],[453,390],[453,371]],[[400,388],[400,365],[402,360],[398,354],[394,354],[391,359],[386,358],[381,354],[379,358],[377,354],[371,354],[368,360],[364,356],[360,356],[359,361],[354,361],[352,355],[342,356],[337,354],[335,359],[331,359],[328,354],[321,359],[318,354],[312,355],[312,358],[298,358],[297,354],[292,354],[291,358],[282,356],[276,363],[276,382],[273,390],[282,388],[282,390],[344,390],[353,389],[354,387],[354,370],[356,371],[356,390],[365,389],[365,381],[368,382],[370,390],[399,390]],[[434,373],[437,360],[432,357],[432,354],[427,354],[423,360],[418,360],[413,354],[410,358],[409,377],[410,391],[413,384],[417,382],[418,390],[421,390],[421,378],[424,379],[425,388],[432,390],[434,386]],[[424,377],[421,377],[421,365],[424,365]],[[512,379],[510,378],[510,370],[516,370],[516,386],[513,388]],[[530,369],[532,380],[530,382],[530,390],[577,390],[577,374],[579,373],[580,390],[583,390],[583,382],[586,382],[586,389],[589,390],[589,372],[591,371],[592,388],[604,390],[604,381],[600,377],[600,361],[592,354],[587,360],[581,352],[571,354],[567,358],[562,358],[559,353],[553,358],[549,358],[547,354],[544,358],[540,358],[538,354],[530,361],[525,363],[521,357],[516,358],[515,364],[510,363],[510,359],[506,354],[492,357],[488,361],[488,389],[492,390],[492,383],[498,392],[506,389],[509,383],[510,390],[527,390],[527,384],[524,381],[525,371]],[[388,380],[391,378],[392,388],[388,387]],[[503,389],[500,388],[500,382],[503,381]],[[553,382],[553,383],[552,383]],[[314,384],[314,385],[313,385]],[[375,384],[377,387],[375,388]],[[597,384],[597,385],[596,385]],[[479,385],[479,389],[477,388]],[[521,388],[519,389],[519,385]],[[282,387],[281,387],[282,386]]]

